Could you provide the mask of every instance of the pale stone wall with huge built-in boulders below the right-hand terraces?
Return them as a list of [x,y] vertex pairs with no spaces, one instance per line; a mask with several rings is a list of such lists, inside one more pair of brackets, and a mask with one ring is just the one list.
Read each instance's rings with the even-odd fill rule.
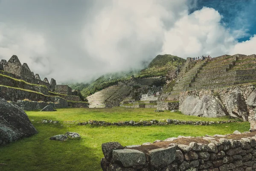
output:
[[[186,91],[180,95],[179,110],[185,115],[218,117],[230,115],[251,120],[256,114],[255,85]],[[248,104],[248,101],[251,101]]]

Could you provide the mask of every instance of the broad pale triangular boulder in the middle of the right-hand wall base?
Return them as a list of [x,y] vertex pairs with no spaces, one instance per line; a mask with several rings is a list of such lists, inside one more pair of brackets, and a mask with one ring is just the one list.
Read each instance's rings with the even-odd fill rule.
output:
[[191,115],[215,118],[226,116],[227,111],[220,99],[215,96],[204,95],[192,110]]

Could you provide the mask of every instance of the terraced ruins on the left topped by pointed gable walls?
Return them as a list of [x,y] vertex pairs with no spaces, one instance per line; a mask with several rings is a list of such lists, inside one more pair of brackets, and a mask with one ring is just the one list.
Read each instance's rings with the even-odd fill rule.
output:
[[[50,83],[47,78],[42,81],[26,63],[21,64],[16,55],[8,62],[3,59],[0,61],[0,97],[17,102],[17,105],[25,110],[43,108],[48,104],[53,104],[56,108],[68,107],[68,101],[72,101],[69,103],[72,107],[88,106],[87,103],[76,104],[81,99],[72,95],[70,87],[56,85],[53,78]],[[23,101],[24,99],[26,101]]]

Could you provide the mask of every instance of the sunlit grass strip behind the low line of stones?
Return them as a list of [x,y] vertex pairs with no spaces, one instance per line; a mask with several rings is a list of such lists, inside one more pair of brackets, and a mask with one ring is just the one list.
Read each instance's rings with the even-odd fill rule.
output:
[[183,121],[227,121],[229,117],[221,118],[202,118],[197,116],[186,116],[180,112],[172,113],[170,111],[154,112],[156,109],[150,108],[65,108],[58,109],[56,112],[33,112],[27,111],[30,119],[52,119],[57,121],[106,121],[106,122],[119,122],[119,121],[140,121],[151,119],[177,119]]

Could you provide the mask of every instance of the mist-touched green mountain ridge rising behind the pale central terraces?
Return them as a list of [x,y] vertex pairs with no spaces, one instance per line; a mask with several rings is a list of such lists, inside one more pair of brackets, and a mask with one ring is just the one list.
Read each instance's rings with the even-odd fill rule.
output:
[[81,91],[83,96],[89,96],[106,87],[118,84],[120,81],[128,80],[134,75],[135,78],[147,78],[154,76],[165,76],[169,70],[186,62],[185,59],[173,55],[157,55],[148,67],[141,71],[115,72],[100,76],[90,84],[69,84],[71,88]]

